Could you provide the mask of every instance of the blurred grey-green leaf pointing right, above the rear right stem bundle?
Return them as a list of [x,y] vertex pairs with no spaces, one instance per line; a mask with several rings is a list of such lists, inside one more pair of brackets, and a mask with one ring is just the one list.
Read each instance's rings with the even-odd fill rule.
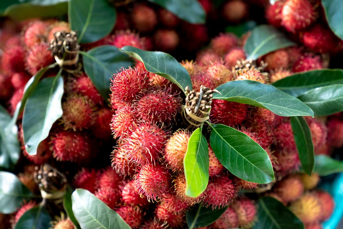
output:
[[244,50],[247,53],[247,59],[256,60],[272,51],[294,45],[296,44],[272,25],[259,25],[251,31]]

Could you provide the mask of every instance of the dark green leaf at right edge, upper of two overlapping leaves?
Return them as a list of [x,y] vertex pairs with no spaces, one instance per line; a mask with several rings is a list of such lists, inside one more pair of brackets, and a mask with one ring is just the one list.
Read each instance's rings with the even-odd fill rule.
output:
[[277,89],[298,97],[305,92],[332,84],[343,84],[342,69],[318,69],[295,73],[273,83]]

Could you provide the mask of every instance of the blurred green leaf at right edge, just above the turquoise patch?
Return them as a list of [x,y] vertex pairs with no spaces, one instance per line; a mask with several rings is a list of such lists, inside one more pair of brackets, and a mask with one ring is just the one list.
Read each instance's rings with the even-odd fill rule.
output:
[[343,172],[343,162],[335,160],[327,155],[316,155],[315,168],[313,171],[318,173],[320,176]]

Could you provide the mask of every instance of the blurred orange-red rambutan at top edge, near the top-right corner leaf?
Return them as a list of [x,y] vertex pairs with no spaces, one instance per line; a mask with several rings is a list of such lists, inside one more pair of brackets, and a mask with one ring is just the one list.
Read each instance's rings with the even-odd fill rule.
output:
[[317,13],[309,0],[287,0],[282,7],[281,25],[289,32],[304,29],[316,20]]

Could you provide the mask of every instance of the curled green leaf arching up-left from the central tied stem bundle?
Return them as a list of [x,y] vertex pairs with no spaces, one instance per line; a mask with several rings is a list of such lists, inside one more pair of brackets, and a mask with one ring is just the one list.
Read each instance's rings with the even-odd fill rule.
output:
[[187,70],[167,53],[159,51],[144,51],[139,48],[124,46],[120,51],[142,61],[147,71],[156,73],[175,83],[185,92],[186,86],[192,90],[192,81]]

